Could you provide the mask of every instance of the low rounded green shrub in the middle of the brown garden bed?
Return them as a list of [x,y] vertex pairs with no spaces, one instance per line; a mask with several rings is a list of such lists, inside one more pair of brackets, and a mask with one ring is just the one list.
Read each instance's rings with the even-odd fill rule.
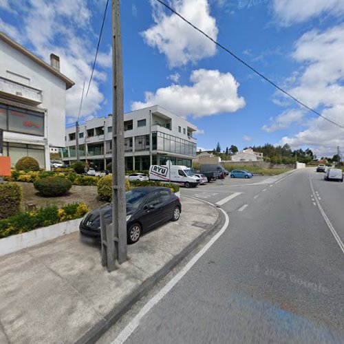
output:
[[42,196],[61,196],[67,193],[71,187],[72,182],[61,177],[38,178],[34,181],[34,188]]

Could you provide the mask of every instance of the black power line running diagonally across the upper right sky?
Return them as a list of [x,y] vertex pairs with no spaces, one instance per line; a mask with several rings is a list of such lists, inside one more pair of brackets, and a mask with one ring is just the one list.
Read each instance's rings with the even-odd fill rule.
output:
[[237,56],[236,54],[234,54],[233,52],[231,52],[230,50],[228,50],[226,47],[224,47],[224,45],[222,45],[221,43],[215,41],[215,39],[211,38],[211,36],[208,36],[208,34],[206,34],[204,31],[202,31],[200,28],[197,28],[197,26],[193,25],[193,23],[191,23],[190,21],[188,21],[187,19],[185,19],[181,14],[179,14],[178,12],[176,12],[175,10],[173,10],[173,8],[171,8],[171,6],[167,5],[166,3],[164,3],[164,1],[162,0],[155,0],[158,1],[158,3],[161,3],[163,6],[165,6],[166,8],[168,8],[171,12],[173,12],[174,14],[176,14],[178,17],[180,17],[180,19],[182,19],[183,21],[185,21],[186,23],[188,23],[189,25],[191,25],[195,30],[197,30],[198,32],[200,32],[201,34],[203,34],[204,36],[206,36],[207,39],[210,39],[213,43],[215,43],[215,45],[217,45],[218,47],[220,47],[222,50],[225,50],[226,52],[228,52],[228,54],[230,54],[231,56],[233,56],[234,58],[237,59],[237,61],[241,62],[242,64],[246,65],[246,67],[248,67],[249,69],[252,70],[252,72],[255,72],[255,74],[258,74],[261,78],[264,78],[264,80],[266,80],[268,83],[270,83],[273,87],[279,89],[279,91],[281,91],[283,94],[286,94],[288,97],[292,98],[292,100],[294,100],[295,102],[297,102],[299,105],[305,107],[306,109],[308,109],[309,111],[312,111],[314,114],[316,114],[317,116],[323,118],[324,120],[327,120],[328,122],[331,122],[332,124],[336,125],[337,127],[340,127],[342,129],[344,129],[343,125],[340,125],[336,122],[334,122],[333,120],[331,120],[330,118],[327,118],[325,116],[323,116],[322,114],[320,114],[318,111],[312,109],[311,107],[309,107],[308,105],[305,105],[305,103],[302,103],[301,100],[295,98],[294,96],[292,96],[289,92],[287,92],[286,90],[282,89],[281,87],[279,87],[277,84],[275,84],[272,80],[270,80],[269,78],[267,78],[266,76],[264,76],[263,74],[261,74],[260,72],[257,71],[257,69],[255,69],[254,67],[251,67],[248,63],[246,63],[244,60],[242,60],[241,58],[239,58],[239,56]]

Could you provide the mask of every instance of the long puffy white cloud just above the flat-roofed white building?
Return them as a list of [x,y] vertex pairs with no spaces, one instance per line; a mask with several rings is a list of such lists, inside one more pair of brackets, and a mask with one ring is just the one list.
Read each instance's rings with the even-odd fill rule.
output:
[[235,112],[245,106],[244,97],[238,96],[239,83],[230,73],[197,69],[191,72],[193,85],[175,85],[146,92],[144,102],[133,102],[131,109],[161,105],[180,116],[200,118]]

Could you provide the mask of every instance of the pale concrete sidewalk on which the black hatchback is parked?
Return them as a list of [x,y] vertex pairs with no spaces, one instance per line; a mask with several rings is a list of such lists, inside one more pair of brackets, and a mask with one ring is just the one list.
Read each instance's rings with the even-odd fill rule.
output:
[[109,274],[100,248],[78,233],[0,259],[0,343],[85,343],[97,338],[213,230],[217,208],[182,197],[183,212],[128,246]]

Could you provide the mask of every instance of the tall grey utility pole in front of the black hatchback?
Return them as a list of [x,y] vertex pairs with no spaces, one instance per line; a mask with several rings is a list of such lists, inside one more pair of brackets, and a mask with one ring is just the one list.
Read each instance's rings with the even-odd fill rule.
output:
[[[127,260],[127,210],[125,201],[125,128],[123,114],[122,36],[120,30],[120,0],[112,0],[112,61],[113,61],[113,116],[112,116],[112,228],[114,253],[118,263]],[[112,237],[111,237],[112,238]],[[108,241],[109,242],[109,241]],[[114,257],[116,257],[114,254]],[[109,258],[109,257],[108,257]],[[109,260],[108,260],[109,262]],[[111,262],[108,270],[114,270]]]

